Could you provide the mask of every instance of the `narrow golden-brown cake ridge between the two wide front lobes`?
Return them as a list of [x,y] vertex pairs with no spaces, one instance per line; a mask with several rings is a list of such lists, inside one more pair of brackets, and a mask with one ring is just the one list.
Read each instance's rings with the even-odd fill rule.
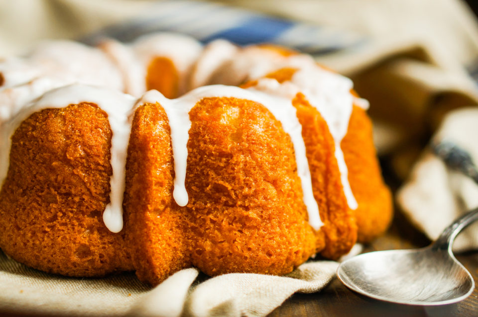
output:
[[144,104],[131,126],[123,216],[136,275],[153,285],[191,266],[188,211],[173,200],[173,178],[168,118],[159,104]]

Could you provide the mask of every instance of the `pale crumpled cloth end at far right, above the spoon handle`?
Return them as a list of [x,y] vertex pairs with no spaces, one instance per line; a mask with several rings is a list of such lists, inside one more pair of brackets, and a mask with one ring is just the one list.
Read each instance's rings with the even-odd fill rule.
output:
[[[450,142],[478,162],[478,107],[450,112],[433,137],[433,143]],[[397,202],[411,222],[434,240],[456,218],[478,206],[478,185],[453,170],[432,149],[424,150],[408,181],[397,193]],[[478,248],[478,223],[458,236],[455,250]]]

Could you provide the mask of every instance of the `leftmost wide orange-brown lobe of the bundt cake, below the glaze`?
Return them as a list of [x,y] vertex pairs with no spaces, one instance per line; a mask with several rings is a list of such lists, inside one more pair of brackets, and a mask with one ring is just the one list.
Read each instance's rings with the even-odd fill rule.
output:
[[123,234],[102,212],[110,190],[106,113],[81,103],[36,112],[12,136],[0,194],[0,245],[12,258],[67,276],[131,270]]

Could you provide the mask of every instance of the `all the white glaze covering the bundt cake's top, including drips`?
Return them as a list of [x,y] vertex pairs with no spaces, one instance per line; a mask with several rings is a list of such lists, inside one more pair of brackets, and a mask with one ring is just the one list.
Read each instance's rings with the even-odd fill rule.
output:
[[[59,50],[55,48],[58,45],[61,48]],[[41,97],[38,102],[31,103],[24,109],[22,107],[25,106],[27,101],[32,100],[46,90],[76,81],[93,81],[89,82],[93,84],[102,82],[103,85],[113,85],[115,89],[118,89],[118,86],[125,87],[128,91],[139,94],[144,90],[147,63],[155,56],[163,56],[170,58],[177,67],[182,78],[180,83],[182,91],[186,90],[186,81],[184,80],[189,75],[191,75],[193,85],[198,82],[206,83],[217,80],[239,84],[245,79],[261,78],[281,68],[297,69],[292,79],[283,83],[274,79],[259,79],[257,85],[248,88],[248,90],[223,85],[205,86],[194,89],[177,99],[167,99],[157,91],[149,91],[135,104],[137,107],[145,102],[159,102],[166,111],[171,126],[176,175],[173,197],[178,205],[185,206],[188,202],[185,177],[188,131],[191,126],[189,111],[199,100],[205,97],[248,99],[269,109],[281,122],[285,132],[291,136],[304,193],[304,203],[309,214],[309,222],[314,229],[318,230],[322,226],[322,222],[317,203],[313,197],[309,165],[301,135],[302,127],[298,122],[295,108],[291,102],[298,92],[302,92],[310,104],[321,112],[329,126],[335,141],[335,157],[339,165],[344,193],[349,206],[356,209],[357,201],[350,188],[347,165],[340,144],[347,133],[353,104],[366,109],[368,102],[351,94],[352,81],[320,68],[307,55],[285,57],[273,50],[259,47],[238,49],[225,41],[213,42],[208,47],[209,50],[206,49],[202,55],[199,55],[201,46],[198,42],[172,34],[148,36],[131,46],[109,41],[107,45],[102,46],[103,53],[99,49],[88,48],[81,44],[60,42],[60,44],[40,47],[35,51],[36,53],[31,55],[27,63],[23,60],[12,60],[10,68],[6,64],[0,64],[0,70],[3,69],[5,74],[9,74],[8,81],[5,82],[11,85],[18,82],[23,83],[0,89],[0,101],[2,98],[7,100],[4,103],[0,102],[1,182],[6,176],[8,167],[9,151],[6,151],[6,149],[9,149],[10,137],[21,121],[44,108],[65,107],[68,104],[78,104],[82,101],[96,103],[108,113],[113,131],[111,202],[105,209],[103,218],[108,229],[119,232],[122,228],[121,204],[125,181],[124,166],[135,99],[118,92],[90,86],[72,85],[51,91]],[[85,53],[86,50],[91,51]],[[183,53],[177,54],[178,51],[183,51]],[[71,52],[71,54],[68,52]],[[135,58],[134,54],[138,54],[140,59]],[[91,58],[86,58],[87,56],[91,56]],[[84,63],[85,58],[91,62],[90,64],[87,63],[87,67]],[[72,59],[82,60],[82,63],[71,64]],[[15,73],[15,67],[12,66],[14,63],[21,66],[23,63],[30,64],[32,61],[35,61],[37,65],[38,63],[43,65],[42,68],[33,68],[30,73],[25,72],[23,77],[20,76],[20,73]],[[197,61],[195,69],[189,74],[194,61]],[[101,70],[101,75],[97,76],[97,73],[92,72],[92,69],[95,71],[97,69]],[[38,76],[37,73],[40,71],[46,75],[36,78],[35,76]],[[47,76],[48,74],[51,76]],[[123,76],[121,77],[119,74]],[[115,79],[110,82],[109,80],[112,77]],[[117,79],[121,82],[115,81]],[[7,109],[4,104],[8,102],[12,106]],[[1,123],[2,120],[4,123]],[[7,120],[9,121],[5,122]]]

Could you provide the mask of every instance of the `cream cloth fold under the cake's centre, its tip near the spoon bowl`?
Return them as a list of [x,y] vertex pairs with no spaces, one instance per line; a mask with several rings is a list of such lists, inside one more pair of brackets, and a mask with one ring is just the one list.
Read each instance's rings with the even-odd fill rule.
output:
[[338,263],[304,263],[286,276],[234,273],[214,277],[192,290],[185,316],[265,316],[296,292],[322,290],[335,276]]

